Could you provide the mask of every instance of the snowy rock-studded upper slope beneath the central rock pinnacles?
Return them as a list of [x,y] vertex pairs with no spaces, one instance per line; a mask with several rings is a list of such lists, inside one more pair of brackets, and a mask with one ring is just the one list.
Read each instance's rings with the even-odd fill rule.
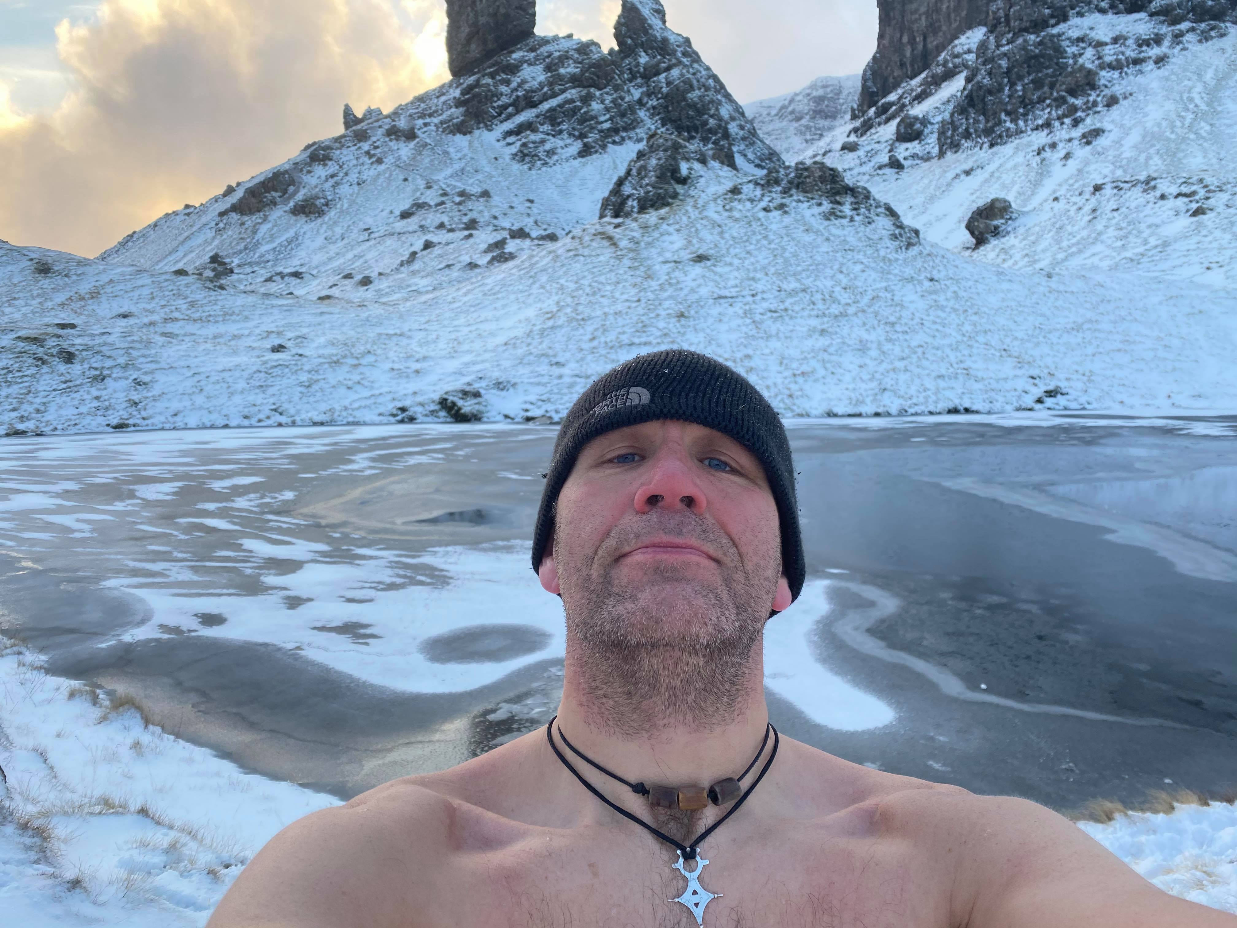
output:
[[100,260],[277,294],[372,286],[402,297],[596,219],[649,132],[745,172],[781,163],[690,42],[666,26],[659,0],[625,0],[615,36],[610,53],[536,36],[160,218]]

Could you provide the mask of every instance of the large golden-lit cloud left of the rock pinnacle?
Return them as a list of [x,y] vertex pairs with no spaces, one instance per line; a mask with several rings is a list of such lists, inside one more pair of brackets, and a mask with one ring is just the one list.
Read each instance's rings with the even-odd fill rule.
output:
[[0,238],[94,255],[447,77],[440,0],[103,0],[49,113],[0,83]]

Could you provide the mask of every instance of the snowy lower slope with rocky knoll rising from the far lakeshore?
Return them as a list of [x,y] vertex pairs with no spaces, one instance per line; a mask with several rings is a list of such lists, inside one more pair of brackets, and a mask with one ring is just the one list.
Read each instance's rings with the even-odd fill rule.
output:
[[1228,294],[914,241],[824,166],[774,182],[713,165],[667,209],[390,299],[215,290],[0,246],[0,423],[444,418],[450,391],[476,391],[454,396],[490,419],[558,417],[599,371],[668,344],[737,365],[787,416],[1237,397]]

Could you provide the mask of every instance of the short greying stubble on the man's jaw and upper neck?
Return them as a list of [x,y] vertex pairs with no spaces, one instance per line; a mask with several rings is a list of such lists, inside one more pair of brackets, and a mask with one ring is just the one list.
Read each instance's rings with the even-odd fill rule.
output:
[[[607,552],[654,533],[720,554],[720,582],[673,561],[647,565],[638,582],[620,577]],[[772,564],[748,565],[725,532],[690,512],[648,513],[616,526],[591,564],[570,562],[555,538],[568,661],[589,724],[635,740],[667,729],[706,733],[743,715],[781,574],[778,553]],[[590,570],[593,564],[607,567]]]

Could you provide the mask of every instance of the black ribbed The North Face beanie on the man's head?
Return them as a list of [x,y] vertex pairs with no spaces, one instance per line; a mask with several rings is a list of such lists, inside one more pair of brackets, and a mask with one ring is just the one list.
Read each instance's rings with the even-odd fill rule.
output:
[[694,422],[730,436],[764,468],[782,526],[782,574],[795,599],[805,567],[785,428],[768,400],[725,364],[672,349],[632,358],[602,375],[575,401],[554,442],[533,533],[533,570],[554,528],[554,504],[580,450],[597,436],[657,419]]

